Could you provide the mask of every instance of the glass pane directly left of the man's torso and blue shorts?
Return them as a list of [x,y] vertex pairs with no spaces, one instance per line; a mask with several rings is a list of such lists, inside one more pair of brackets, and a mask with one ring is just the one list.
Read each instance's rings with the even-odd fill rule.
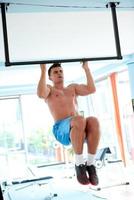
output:
[[44,100],[23,95],[22,111],[28,162],[42,165],[61,161],[61,146],[52,134],[53,119]]

